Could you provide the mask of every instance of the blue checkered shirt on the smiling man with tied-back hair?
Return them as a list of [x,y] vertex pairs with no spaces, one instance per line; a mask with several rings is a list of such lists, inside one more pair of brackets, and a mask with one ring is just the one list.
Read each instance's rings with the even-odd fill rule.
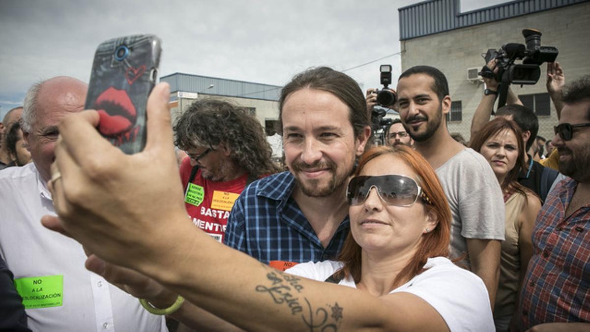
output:
[[350,228],[348,216],[324,248],[291,197],[294,187],[295,178],[290,172],[248,185],[231,210],[224,243],[267,264],[336,259]]

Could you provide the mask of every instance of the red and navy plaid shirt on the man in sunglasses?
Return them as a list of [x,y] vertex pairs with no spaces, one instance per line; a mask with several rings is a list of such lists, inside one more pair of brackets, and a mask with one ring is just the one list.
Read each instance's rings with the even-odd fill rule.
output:
[[549,194],[533,231],[533,256],[520,294],[522,327],[590,322],[590,202],[565,216],[571,178]]

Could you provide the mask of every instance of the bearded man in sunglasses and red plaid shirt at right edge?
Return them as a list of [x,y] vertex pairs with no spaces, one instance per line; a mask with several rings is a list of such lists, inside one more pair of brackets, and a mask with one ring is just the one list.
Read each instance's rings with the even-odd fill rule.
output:
[[533,230],[520,294],[522,330],[590,330],[590,75],[564,87],[553,146],[561,181]]

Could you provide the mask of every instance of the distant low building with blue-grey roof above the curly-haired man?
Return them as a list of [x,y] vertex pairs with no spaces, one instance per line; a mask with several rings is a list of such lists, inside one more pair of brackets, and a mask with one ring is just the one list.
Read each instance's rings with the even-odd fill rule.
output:
[[170,84],[172,121],[196,99],[222,99],[251,112],[266,128],[278,119],[278,97],[282,86],[221,79],[185,73],[160,77]]

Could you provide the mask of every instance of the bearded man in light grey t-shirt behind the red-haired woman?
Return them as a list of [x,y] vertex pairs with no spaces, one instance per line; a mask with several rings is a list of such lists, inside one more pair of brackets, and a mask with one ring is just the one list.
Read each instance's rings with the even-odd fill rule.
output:
[[436,170],[453,214],[451,257],[467,253],[464,265],[483,279],[493,304],[504,240],[504,201],[496,175],[484,157],[448,133],[444,115],[451,98],[440,70],[416,66],[404,71],[397,93],[404,127]]

